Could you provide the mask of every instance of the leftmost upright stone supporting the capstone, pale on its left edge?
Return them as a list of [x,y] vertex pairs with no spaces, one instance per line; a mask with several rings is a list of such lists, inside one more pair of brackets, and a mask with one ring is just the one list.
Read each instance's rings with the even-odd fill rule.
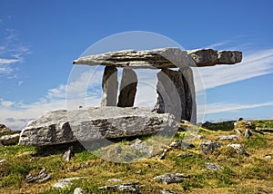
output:
[[117,87],[116,67],[106,66],[102,81],[103,95],[100,106],[116,106]]

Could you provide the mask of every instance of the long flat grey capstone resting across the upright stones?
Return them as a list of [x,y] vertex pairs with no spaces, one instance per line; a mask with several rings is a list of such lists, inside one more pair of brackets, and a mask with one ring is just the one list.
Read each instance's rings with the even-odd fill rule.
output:
[[179,48],[161,48],[146,51],[124,50],[84,56],[74,64],[107,65],[126,68],[174,68],[234,64],[242,60],[238,51],[200,49],[181,51]]

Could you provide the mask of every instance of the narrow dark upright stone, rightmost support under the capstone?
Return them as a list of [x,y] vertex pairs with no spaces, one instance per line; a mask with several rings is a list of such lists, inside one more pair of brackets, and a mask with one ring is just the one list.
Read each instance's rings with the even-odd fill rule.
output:
[[196,102],[196,88],[192,69],[190,67],[180,68],[183,74],[183,82],[185,87],[185,120],[192,123],[197,123],[197,102]]

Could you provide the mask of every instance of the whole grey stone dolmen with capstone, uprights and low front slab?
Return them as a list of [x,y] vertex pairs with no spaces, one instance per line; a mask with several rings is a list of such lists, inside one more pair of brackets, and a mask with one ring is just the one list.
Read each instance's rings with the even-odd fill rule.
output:
[[[21,145],[54,145],[138,137],[166,129],[177,129],[179,121],[197,122],[197,104],[192,68],[235,64],[239,51],[179,48],[124,50],[80,57],[74,64],[104,65],[100,107],[74,111],[45,112],[21,131]],[[117,68],[122,78],[117,82]],[[135,69],[160,69],[157,73],[157,102],[153,110],[134,107],[137,75]]]

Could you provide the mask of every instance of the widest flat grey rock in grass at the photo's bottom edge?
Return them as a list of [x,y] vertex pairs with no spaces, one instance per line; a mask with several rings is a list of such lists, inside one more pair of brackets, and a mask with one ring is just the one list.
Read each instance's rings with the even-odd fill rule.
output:
[[123,191],[123,192],[140,193],[138,189],[139,186],[140,184],[138,182],[128,182],[128,183],[122,183],[119,185],[108,185],[108,186],[100,187],[98,189],[105,189],[110,192]]

